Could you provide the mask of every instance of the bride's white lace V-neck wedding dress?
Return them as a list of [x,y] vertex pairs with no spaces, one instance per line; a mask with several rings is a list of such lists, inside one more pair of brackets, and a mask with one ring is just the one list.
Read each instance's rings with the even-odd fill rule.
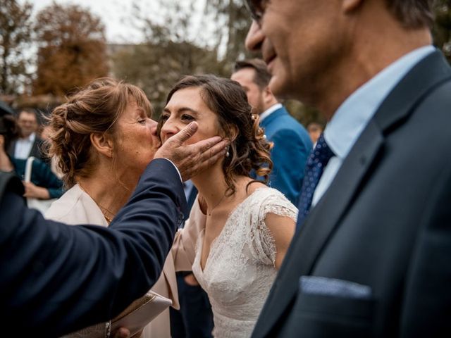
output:
[[276,189],[256,189],[239,204],[211,243],[200,265],[204,231],[197,239],[192,271],[209,295],[214,336],[250,337],[276,277],[276,246],[266,214],[297,217],[297,208]]

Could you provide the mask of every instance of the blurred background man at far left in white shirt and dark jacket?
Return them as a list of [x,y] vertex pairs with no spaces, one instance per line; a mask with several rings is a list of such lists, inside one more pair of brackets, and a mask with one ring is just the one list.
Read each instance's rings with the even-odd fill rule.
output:
[[23,160],[33,156],[48,162],[47,156],[43,154],[44,141],[36,134],[39,127],[36,111],[32,108],[24,108],[20,111],[17,122],[21,136],[16,141],[11,142],[9,155]]

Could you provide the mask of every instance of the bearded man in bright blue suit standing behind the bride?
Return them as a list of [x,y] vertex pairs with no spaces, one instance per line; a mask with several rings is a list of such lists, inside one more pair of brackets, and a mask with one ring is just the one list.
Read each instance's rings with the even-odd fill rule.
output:
[[297,196],[304,178],[304,166],[311,151],[307,130],[278,102],[268,87],[271,74],[259,59],[237,61],[230,77],[241,84],[253,113],[260,116],[260,126],[266,138],[273,142],[271,160],[273,170],[270,186],[297,205]]

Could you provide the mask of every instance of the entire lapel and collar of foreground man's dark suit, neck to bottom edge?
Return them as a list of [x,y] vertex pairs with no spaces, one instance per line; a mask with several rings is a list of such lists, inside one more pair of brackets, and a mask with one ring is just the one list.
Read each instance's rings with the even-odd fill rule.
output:
[[[333,235],[342,216],[367,181],[371,168],[377,163],[384,144],[384,134],[400,125],[433,86],[450,78],[450,68],[440,53],[426,57],[393,89],[360,135],[332,184],[311,210],[299,234],[293,239],[287,259],[257,322],[254,337],[264,337],[275,329],[283,314],[295,300],[298,280],[309,275],[328,239]],[[412,99],[414,98],[414,99]],[[288,314],[287,314],[288,315]]]

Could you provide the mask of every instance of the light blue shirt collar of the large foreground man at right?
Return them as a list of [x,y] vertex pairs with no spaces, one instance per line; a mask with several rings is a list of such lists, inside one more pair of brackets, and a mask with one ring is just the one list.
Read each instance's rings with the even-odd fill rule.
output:
[[433,51],[433,46],[424,46],[402,56],[341,104],[324,130],[324,138],[336,156],[347,156],[385,97],[416,63]]

